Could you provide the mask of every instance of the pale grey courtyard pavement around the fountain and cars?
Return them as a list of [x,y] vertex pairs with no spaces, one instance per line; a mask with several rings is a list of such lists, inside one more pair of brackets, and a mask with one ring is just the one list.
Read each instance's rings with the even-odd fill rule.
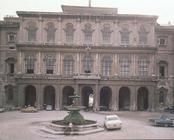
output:
[[[165,113],[154,112],[81,112],[86,119],[93,119],[103,125],[107,114],[117,114],[123,122],[121,130],[103,131],[84,136],[62,136],[37,134],[33,123],[63,119],[65,111],[39,111],[38,113],[21,113],[19,111],[0,114],[0,140],[113,140],[113,139],[174,139],[174,127],[154,127],[148,123],[149,118],[159,117]],[[173,115],[174,114],[170,114]]]

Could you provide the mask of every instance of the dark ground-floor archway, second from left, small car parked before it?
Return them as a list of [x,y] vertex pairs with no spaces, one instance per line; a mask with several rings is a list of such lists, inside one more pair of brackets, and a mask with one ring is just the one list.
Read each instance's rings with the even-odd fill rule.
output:
[[44,105],[51,105],[55,109],[55,88],[52,86],[44,88]]

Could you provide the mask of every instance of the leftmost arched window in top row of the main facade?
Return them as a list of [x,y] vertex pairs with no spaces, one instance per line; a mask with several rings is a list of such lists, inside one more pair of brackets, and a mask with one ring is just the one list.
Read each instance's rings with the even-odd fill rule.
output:
[[36,41],[37,27],[35,22],[29,22],[27,26],[28,41]]

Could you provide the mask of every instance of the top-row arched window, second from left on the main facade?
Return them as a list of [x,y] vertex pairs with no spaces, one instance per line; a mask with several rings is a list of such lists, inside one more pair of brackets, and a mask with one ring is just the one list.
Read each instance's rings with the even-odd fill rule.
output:
[[55,27],[54,27],[54,24],[49,22],[47,24],[47,42],[54,42],[55,41]]

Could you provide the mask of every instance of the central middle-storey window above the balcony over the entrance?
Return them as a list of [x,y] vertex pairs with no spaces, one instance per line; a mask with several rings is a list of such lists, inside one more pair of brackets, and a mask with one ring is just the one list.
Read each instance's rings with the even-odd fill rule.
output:
[[92,58],[90,56],[85,56],[83,59],[83,67],[85,73],[91,73],[92,71]]

